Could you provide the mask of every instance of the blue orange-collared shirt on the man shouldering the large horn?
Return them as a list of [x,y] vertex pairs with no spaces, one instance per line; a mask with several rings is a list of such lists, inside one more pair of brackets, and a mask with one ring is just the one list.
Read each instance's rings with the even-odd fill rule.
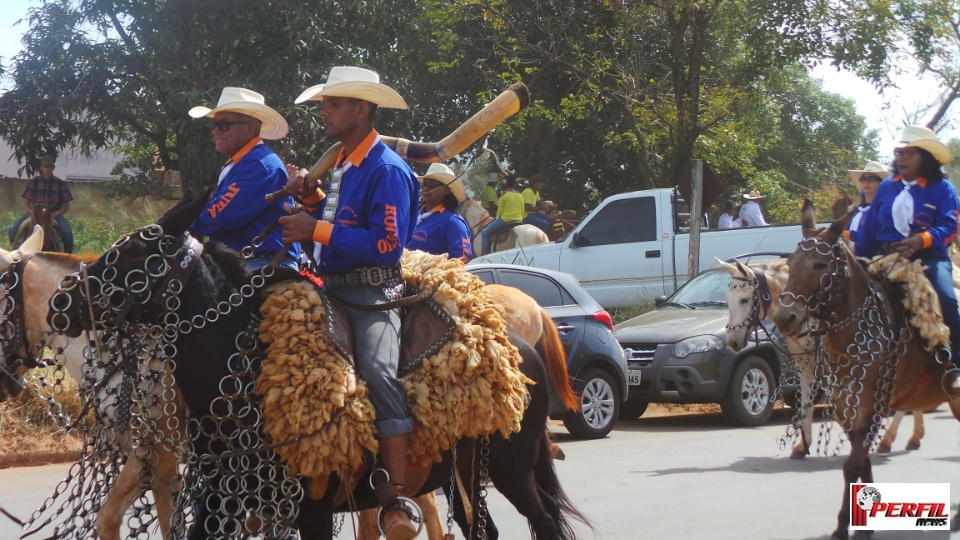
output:
[[346,171],[333,223],[323,221],[325,196],[303,201],[320,220],[313,232],[314,241],[323,244],[320,274],[397,264],[417,222],[420,190],[413,170],[375,130],[349,156],[341,152],[337,167]]

